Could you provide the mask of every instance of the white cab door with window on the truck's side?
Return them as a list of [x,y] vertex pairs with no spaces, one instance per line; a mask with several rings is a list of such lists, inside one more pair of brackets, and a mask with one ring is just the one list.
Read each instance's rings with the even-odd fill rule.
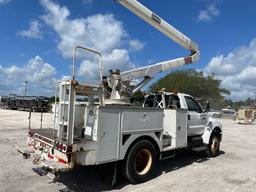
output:
[[201,135],[207,124],[207,114],[192,97],[185,96],[188,109],[188,136]]

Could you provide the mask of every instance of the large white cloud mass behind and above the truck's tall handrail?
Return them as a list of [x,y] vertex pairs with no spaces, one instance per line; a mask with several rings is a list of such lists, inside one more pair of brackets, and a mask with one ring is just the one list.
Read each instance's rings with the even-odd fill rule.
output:
[[[134,67],[130,61],[129,53],[124,45],[129,45],[138,51],[143,48],[139,40],[130,41],[129,35],[121,21],[113,14],[95,14],[86,18],[70,18],[70,11],[51,0],[41,0],[46,14],[41,18],[57,33],[59,41],[57,48],[64,58],[72,57],[75,45],[81,45],[100,51],[103,54],[104,69],[119,68],[126,70]],[[97,58],[93,56],[82,57],[78,75],[87,80],[99,79],[99,66]]]

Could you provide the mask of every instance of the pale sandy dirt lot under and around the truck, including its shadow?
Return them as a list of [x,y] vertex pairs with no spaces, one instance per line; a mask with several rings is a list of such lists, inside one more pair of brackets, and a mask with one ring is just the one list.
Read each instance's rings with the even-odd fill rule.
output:
[[[39,127],[40,113],[32,114],[32,126]],[[208,159],[204,153],[182,153],[160,163],[157,176],[143,184],[132,185],[123,178],[116,187],[111,180],[111,166],[84,167],[63,173],[59,183],[49,182],[24,160],[16,147],[26,140],[28,112],[0,109],[0,191],[256,191],[256,125],[223,123],[221,154]],[[37,120],[36,120],[37,119]],[[43,126],[50,126],[50,114],[44,114]]]

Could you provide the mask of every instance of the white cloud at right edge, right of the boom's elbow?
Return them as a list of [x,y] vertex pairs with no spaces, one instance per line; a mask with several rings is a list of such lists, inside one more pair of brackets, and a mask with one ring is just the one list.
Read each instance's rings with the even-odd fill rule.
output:
[[230,98],[239,100],[256,97],[256,38],[229,54],[218,55],[205,67],[222,80],[222,86],[231,91]]

